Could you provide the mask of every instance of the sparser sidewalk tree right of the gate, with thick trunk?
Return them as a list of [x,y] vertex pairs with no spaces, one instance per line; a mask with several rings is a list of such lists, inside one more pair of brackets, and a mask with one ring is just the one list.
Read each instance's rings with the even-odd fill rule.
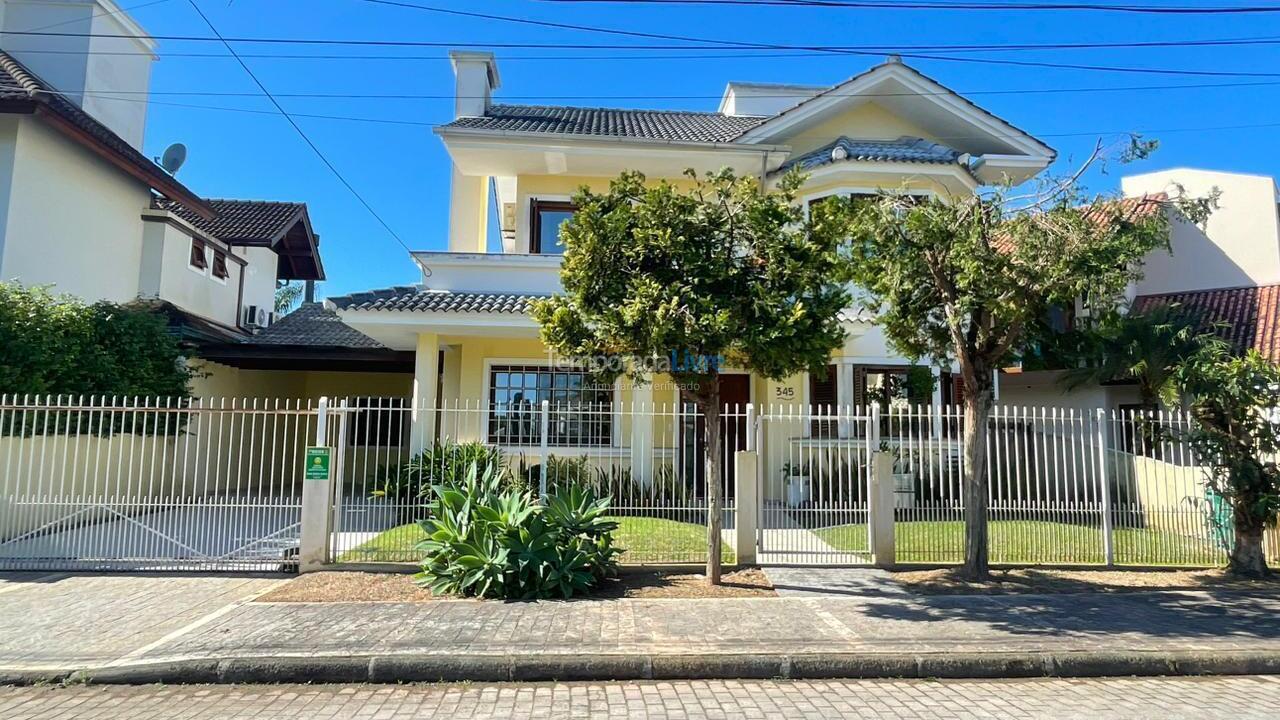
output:
[[[1020,197],[997,188],[947,199],[890,192],[842,202],[855,282],[886,337],[910,359],[959,365],[961,574],[969,579],[988,574],[987,427],[995,373],[1052,306],[1119,297],[1142,258],[1169,242],[1166,213],[1135,215],[1101,197],[1082,206],[1079,174]],[[1174,210],[1198,219],[1201,208],[1179,201]]]

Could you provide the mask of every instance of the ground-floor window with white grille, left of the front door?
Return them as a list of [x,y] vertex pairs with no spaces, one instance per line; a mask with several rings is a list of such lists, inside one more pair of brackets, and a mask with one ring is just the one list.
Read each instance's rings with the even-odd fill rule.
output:
[[495,365],[489,370],[489,442],[539,445],[541,404],[550,404],[547,445],[613,441],[613,386],[584,370]]

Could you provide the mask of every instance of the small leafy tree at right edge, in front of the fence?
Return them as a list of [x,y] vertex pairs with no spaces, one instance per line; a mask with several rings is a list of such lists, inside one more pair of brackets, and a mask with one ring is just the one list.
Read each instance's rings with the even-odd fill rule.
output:
[[1280,368],[1256,350],[1231,356],[1216,341],[1175,379],[1190,405],[1185,434],[1197,462],[1207,468],[1206,483],[1231,505],[1235,541],[1228,571],[1263,577],[1262,533],[1280,511]]

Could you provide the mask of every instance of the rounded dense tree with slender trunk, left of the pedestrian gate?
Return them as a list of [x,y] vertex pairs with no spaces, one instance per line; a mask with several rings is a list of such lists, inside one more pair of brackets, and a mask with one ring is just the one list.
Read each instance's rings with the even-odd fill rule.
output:
[[[623,173],[605,193],[582,188],[562,225],[563,295],[534,304],[554,351],[641,379],[662,369],[704,420],[707,579],[721,573],[719,370],[781,379],[823,368],[845,338],[850,304],[844,228],[829,214],[805,219],[804,182],[787,174],[773,192],[730,170],[681,192]],[[676,361],[664,364],[664,359]]]

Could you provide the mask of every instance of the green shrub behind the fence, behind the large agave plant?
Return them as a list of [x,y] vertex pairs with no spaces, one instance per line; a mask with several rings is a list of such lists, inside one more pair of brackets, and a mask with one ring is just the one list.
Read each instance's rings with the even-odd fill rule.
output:
[[507,484],[521,484],[507,469],[507,460],[497,447],[483,442],[457,443],[439,441],[399,465],[381,466],[374,478],[374,497],[415,501],[429,497],[431,486],[462,484],[468,468],[475,465],[481,475],[493,468]]

